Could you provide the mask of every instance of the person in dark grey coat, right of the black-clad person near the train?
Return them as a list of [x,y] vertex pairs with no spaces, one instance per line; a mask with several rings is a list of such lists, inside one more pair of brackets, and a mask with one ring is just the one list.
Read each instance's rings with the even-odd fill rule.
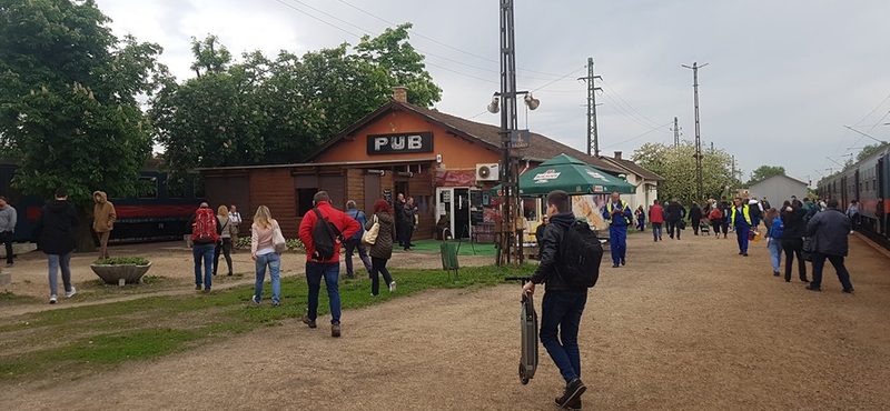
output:
[[822,291],[822,268],[825,259],[834,265],[838,272],[838,280],[843,285],[843,292],[853,292],[853,284],[850,282],[850,273],[843,265],[843,258],[847,257],[849,242],[847,235],[850,234],[850,219],[838,210],[838,200],[828,200],[828,209],[818,212],[807,223],[807,234],[813,237],[813,281],[807,285],[808,290]]

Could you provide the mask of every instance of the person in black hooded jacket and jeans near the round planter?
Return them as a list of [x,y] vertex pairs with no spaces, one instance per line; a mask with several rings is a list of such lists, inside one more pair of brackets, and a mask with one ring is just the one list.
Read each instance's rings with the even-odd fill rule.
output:
[[47,253],[49,259],[49,303],[55,304],[58,300],[59,268],[62,270],[62,284],[65,284],[65,297],[71,298],[77,292],[71,284],[71,253],[75,251],[75,227],[80,221],[77,218],[75,207],[68,202],[68,190],[56,190],[56,199],[50,201],[42,209],[37,218],[33,235],[37,247]]

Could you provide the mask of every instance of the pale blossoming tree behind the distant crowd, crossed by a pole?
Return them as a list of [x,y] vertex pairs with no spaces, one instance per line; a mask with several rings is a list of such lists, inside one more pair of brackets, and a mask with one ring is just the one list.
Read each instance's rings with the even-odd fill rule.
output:
[[740,186],[732,176],[732,157],[723,150],[705,150],[702,154],[702,199],[696,198],[695,147],[684,141],[679,147],[645,143],[633,152],[633,161],[664,177],[659,183],[659,197],[678,198],[685,204],[709,198],[720,199]]

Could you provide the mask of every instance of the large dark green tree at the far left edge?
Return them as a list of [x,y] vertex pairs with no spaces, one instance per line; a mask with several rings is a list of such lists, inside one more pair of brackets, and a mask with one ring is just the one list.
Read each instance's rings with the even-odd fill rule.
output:
[[151,152],[137,97],[165,72],[159,46],[120,40],[108,21],[92,0],[0,0],[0,154],[19,159],[13,187],[66,187],[81,213],[93,190],[136,192]]

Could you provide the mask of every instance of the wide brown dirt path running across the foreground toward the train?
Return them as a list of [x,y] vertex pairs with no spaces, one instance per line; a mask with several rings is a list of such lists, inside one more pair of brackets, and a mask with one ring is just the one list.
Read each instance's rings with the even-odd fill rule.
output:
[[[689,230],[688,230],[689,231]],[[582,321],[585,409],[890,409],[887,257],[853,238],[856,294],[772,275],[764,243],[630,237]],[[538,299],[540,301],[540,294]],[[518,285],[433,291],[344,313],[344,337],[297,321],[72,381],[0,385],[9,410],[556,410],[541,351],[516,375]]]

